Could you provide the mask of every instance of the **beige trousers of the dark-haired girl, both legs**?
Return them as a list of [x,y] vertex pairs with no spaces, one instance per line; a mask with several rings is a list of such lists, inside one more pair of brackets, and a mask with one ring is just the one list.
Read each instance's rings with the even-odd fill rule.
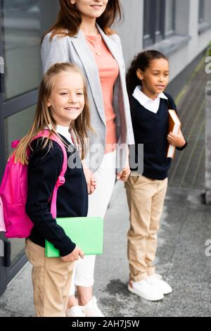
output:
[[127,234],[129,279],[139,282],[155,273],[153,261],[167,192],[167,178],[151,180],[143,176],[130,176],[125,188],[130,211],[130,229]]

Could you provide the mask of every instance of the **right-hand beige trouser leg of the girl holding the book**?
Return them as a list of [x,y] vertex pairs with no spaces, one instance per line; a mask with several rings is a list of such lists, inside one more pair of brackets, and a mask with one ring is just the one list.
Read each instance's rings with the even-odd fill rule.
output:
[[151,225],[149,228],[148,237],[146,238],[146,265],[148,276],[155,274],[153,262],[155,260],[157,249],[160,217],[167,192],[167,178],[165,180],[156,180],[156,185],[158,189],[152,199]]

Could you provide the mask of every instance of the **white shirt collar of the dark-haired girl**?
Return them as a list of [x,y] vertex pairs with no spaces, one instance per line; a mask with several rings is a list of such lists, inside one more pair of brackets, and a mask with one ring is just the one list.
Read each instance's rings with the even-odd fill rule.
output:
[[150,99],[148,96],[146,96],[146,94],[141,91],[141,85],[136,86],[136,88],[134,89],[133,96],[137,101],[139,101],[139,104],[144,106],[144,108],[148,109],[148,111],[152,111],[153,113],[158,112],[158,108],[160,106],[160,99],[168,99],[163,92],[158,94],[158,98],[156,98],[155,100]]

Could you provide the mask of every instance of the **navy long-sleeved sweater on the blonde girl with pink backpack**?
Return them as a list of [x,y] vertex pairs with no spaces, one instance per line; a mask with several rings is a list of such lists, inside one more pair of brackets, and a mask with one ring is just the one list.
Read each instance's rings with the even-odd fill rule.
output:
[[[60,137],[70,146],[70,142],[65,137],[61,135]],[[44,149],[41,149],[41,145],[41,139],[32,142],[33,152],[30,154],[28,165],[26,212],[34,223],[29,238],[34,244],[42,247],[45,246],[47,239],[60,251],[60,256],[66,256],[75,249],[76,245],[52,217],[51,201],[49,201],[62,169],[63,151],[56,142],[53,142],[50,151],[48,145]],[[77,162],[81,164],[75,146],[71,145],[71,147],[71,151],[66,148],[68,158],[75,153]],[[82,167],[67,168],[65,184],[58,188],[56,207],[58,218],[87,216],[87,182]]]

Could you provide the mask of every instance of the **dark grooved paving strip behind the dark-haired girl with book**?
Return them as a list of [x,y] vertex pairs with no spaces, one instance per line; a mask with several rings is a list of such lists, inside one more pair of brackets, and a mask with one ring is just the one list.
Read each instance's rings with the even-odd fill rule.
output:
[[[184,153],[177,153],[170,168],[169,185],[174,188],[205,187],[205,58],[177,97],[181,130],[188,141]],[[211,128],[210,128],[211,130]]]

